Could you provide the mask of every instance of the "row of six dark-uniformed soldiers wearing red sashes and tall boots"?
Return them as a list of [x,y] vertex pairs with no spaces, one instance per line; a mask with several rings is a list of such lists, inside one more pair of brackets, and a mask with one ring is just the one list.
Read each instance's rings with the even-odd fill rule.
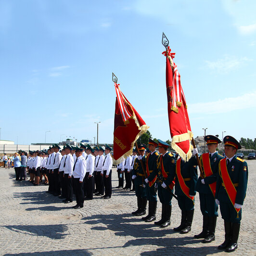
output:
[[[138,209],[132,212],[135,216],[146,214],[149,201],[149,213],[142,220],[151,222],[156,219],[156,205],[158,197],[162,204],[162,217],[154,224],[165,228],[170,225],[172,198],[178,200],[181,210],[181,223],[174,228],[181,234],[191,231],[194,213],[194,197],[199,192],[200,209],[203,215],[203,230],[195,235],[195,239],[203,239],[203,243],[215,240],[215,228],[218,217],[218,205],[224,219],[225,241],[218,249],[232,252],[237,248],[237,240],[242,219],[242,206],[245,198],[248,179],[248,167],[244,160],[236,157],[241,145],[231,136],[226,136],[226,158],[218,154],[217,147],[221,141],[212,135],[205,136],[209,153],[200,156],[202,172],[197,175],[198,162],[194,155],[185,162],[178,160],[167,151],[170,146],[158,140],[149,140],[151,153],[145,157],[146,145],[139,146],[139,156],[136,158],[132,179],[135,180]],[[156,152],[156,147],[160,155]],[[175,188],[175,192],[174,192]]]

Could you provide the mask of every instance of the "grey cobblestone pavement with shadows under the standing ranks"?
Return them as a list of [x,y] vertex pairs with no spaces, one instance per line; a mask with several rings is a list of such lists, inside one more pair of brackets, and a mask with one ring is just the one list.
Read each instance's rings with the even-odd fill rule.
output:
[[[247,161],[249,181],[243,206],[243,219],[238,249],[233,255],[256,255],[256,160]],[[227,255],[217,246],[224,241],[224,224],[219,217],[216,241],[201,243],[193,236],[202,230],[199,196],[195,199],[192,231],[181,235],[180,210],[173,199],[171,226],[161,229],[131,215],[136,209],[134,192],[115,189],[109,200],[95,197],[85,201],[84,208],[45,191],[46,186],[31,186],[28,181],[15,181],[14,170],[0,169],[0,255]],[[157,219],[161,207],[158,203]],[[220,213],[219,213],[220,215]]]

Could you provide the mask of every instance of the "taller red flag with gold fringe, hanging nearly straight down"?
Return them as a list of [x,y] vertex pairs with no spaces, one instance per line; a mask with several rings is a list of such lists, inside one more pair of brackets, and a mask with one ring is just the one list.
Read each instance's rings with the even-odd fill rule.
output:
[[166,56],[166,91],[169,127],[172,138],[171,146],[184,161],[188,161],[192,156],[191,140],[193,134],[184,92],[180,83],[180,75],[177,65],[173,62],[175,53],[171,52],[168,46],[162,54]]

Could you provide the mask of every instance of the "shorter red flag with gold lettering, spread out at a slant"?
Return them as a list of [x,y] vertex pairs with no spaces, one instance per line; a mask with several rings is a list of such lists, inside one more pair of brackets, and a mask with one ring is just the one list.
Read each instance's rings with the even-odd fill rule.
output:
[[117,78],[113,81],[116,92],[113,157],[118,164],[132,154],[134,142],[149,127],[120,90]]

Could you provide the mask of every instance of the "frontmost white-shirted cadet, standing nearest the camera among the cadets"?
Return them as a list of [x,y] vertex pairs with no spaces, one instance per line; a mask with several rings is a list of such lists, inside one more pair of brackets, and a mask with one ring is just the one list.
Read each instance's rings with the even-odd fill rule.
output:
[[76,162],[73,167],[73,182],[74,182],[74,191],[76,194],[77,205],[72,206],[72,208],[78,209],[84,207],[84,186],[83,180],[86,174],[86,160],[82,156],[83,149],[74,147],[76,151]]

